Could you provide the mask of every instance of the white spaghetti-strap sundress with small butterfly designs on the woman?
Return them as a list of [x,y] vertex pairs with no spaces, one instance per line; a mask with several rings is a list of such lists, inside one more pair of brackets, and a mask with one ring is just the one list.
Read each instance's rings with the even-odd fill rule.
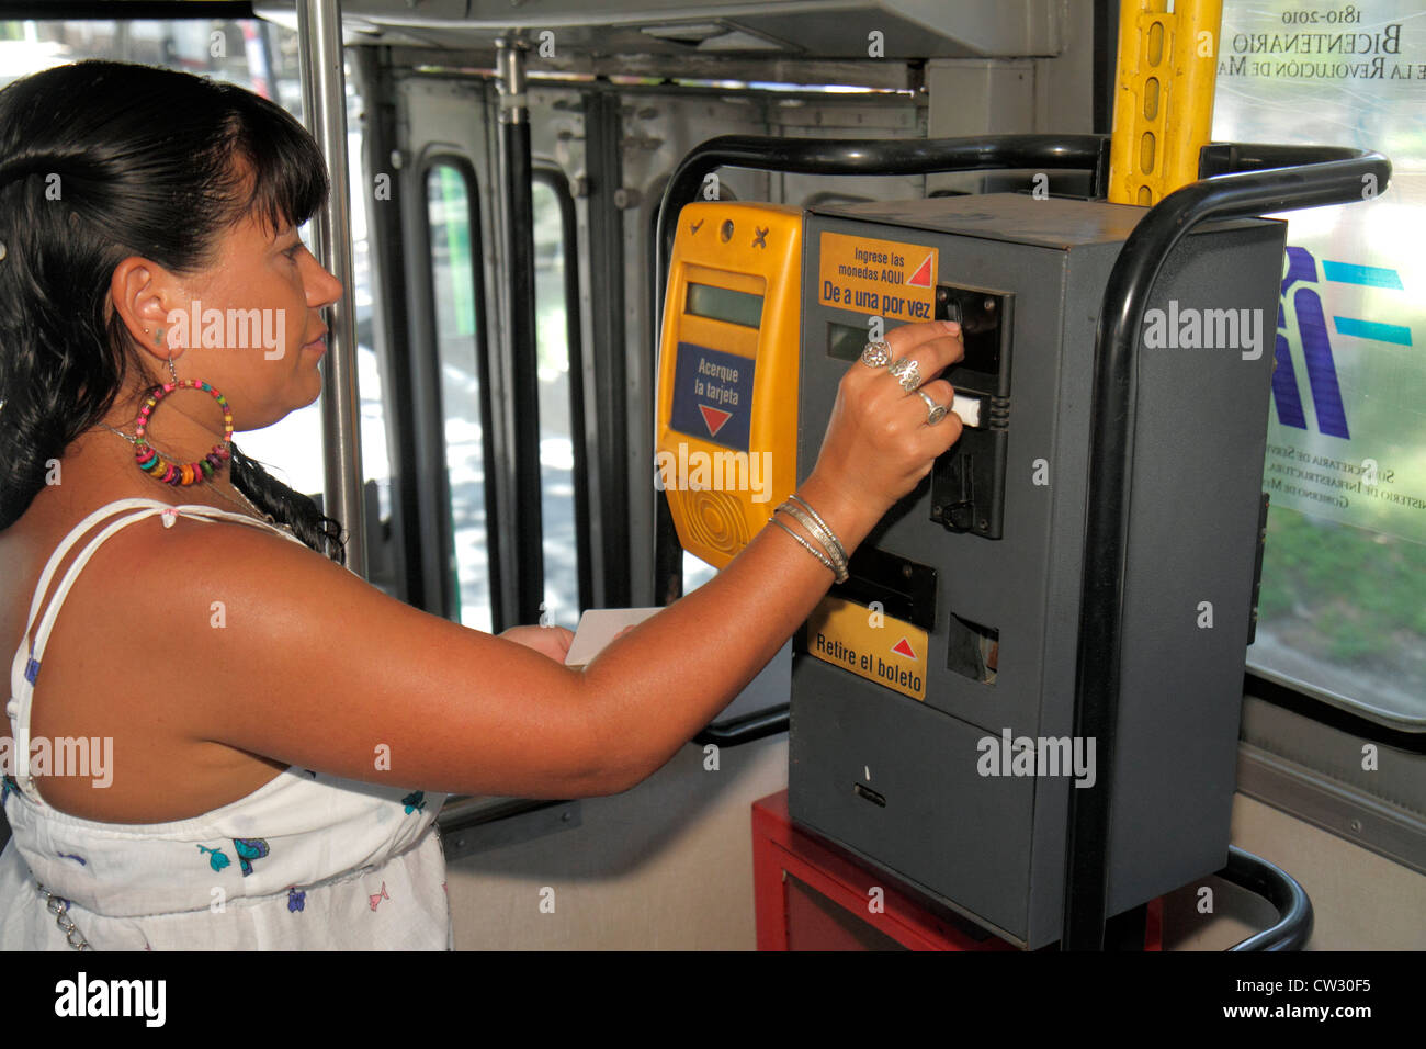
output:
[[[66,552],[104,527],[30,629]],[[151,517],[279,528],[204,505],[120,500],[90,514],[50,557],[10,669],[6,712],[29,755],[30,712],[64,597],[110,535]],[[155,542],[163,532],[155,531]],[[9,771],[9,769],[7,769]],[[70,949],[43,885],[97,951],[449,949],[445,859],[434,826],[443,794],[288,768],[252,794],[193,819],[103,824],[58,812],[16,766],[0,796],[13,838],[0,855],[0,949]],[[33,769],[29,769],[33,772]]]

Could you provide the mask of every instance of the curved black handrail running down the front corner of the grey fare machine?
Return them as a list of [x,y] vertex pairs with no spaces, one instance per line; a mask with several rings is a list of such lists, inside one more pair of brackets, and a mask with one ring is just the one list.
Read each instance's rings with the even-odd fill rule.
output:
[[[1075,736],[1094,739],[1099,766],[1112,769],[1119,708],[1119,645],[1128,545],[1129,475],[1138,398],[1135,340],[1154,281],[1195,225],[1322,204],[1346,204],[1386,188],[1392,166],[1379,153],[1320,146],[1208,147],[1209,168],[1242,163],[1175,190],[1134,227],[1109,273],[1095,331],[1089,437],[1089,494],[1075,669]],[[1291,167],[1282,167],[1291,164]],[[1065,911],[1061,945],[1104,946],[1111,775],[1070,792]]]

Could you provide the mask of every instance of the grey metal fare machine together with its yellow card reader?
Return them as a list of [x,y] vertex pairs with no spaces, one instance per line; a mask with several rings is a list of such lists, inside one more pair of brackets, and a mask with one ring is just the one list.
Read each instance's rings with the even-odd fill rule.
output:
[[[680,541],[719,567],[811,471],[874,318],[961,323],[965,360],[945,377],[963,437],[796,639],[789,808],[1027,948],[1061,936],[1079,785],[1112,776],[1108,915],[1228,852],[1281,221],[1199,225],[1154,285],[1114,766],[1072,738],[1095,324],[1145,214],[1018,194],[700,203],[670,263],[657,451]],[[693,484],[680,444],[767,452],[773,482]]]

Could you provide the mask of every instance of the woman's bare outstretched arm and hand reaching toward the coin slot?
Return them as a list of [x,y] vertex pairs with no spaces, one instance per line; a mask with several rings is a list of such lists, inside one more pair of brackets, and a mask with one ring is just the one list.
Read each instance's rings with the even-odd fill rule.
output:
[[[921,374],[963,353],[958,331],[941,324],[897,328],[888,341]],[[951,400],[944,381],[921,388]],[[850,365],[817,467],[799,490],[848,552],[958,437],[954,415],[928,427],[925,412],[884,368]],[[211,564],[221,549],[224,564],[197,578],[163,572],[165,631],[202,659],[191,669],[147,664],[147,705],[194,739],[466,794],[627,789],[757,674],[831,584],[791,537],[764,528],[717,578],[575,671],[404,605],[278,537],[215,532],[190,524],[173,537],[188,548],[181,557]],[[212,601],[225,607],[221,629],[210,625]]]

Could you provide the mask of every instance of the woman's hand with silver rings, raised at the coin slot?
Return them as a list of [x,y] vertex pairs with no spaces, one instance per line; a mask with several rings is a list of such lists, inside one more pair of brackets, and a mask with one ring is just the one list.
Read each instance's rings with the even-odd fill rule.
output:
[[801,488],[834,528],[840,520],[848,552],[961,435],[961,420],[951,411],[927,425],[931,408],[920,395],[950,408],[954,390],[935,377],[965,355],[961,325],[906,324],[888,331],[886,343],[893,363],[915,361],[918,388],[907,391],[886,365],[854,361],[837,387],[817,467]]

